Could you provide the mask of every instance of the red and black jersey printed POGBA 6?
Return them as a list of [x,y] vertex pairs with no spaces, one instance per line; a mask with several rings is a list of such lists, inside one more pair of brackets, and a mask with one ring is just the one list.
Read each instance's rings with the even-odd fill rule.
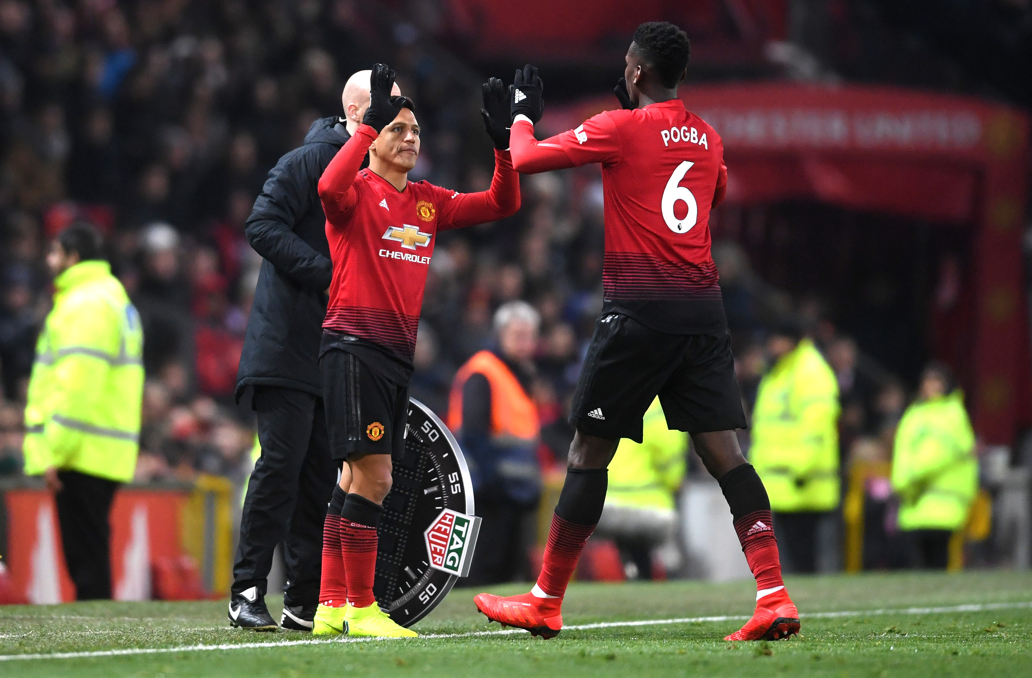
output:
[[603,313],[676,334],[727,326],[709,231],[714,195],[728,181],[723,144],[680,99],[607,110],[540,142],[517,119],[512,155],[523,172],[602,165]]

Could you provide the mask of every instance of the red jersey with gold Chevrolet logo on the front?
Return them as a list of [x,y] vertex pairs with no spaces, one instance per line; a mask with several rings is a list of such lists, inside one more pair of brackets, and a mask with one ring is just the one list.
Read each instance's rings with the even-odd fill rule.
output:
[[365,340],[411,364],[438,232],[515,214],[519,175],[509,153],[495,151],[488,191],[459,193],[427,182],[398,191],[359,170],[376,137],[361,125],[319,180],[333,261],[323,330]]

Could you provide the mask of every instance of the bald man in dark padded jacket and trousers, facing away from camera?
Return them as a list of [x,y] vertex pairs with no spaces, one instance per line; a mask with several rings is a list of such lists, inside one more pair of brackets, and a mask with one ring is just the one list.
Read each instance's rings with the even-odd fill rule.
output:
[[[399,94],[394,86],[393,94]],[[369,71],[344,89],[345,117],[315,121],[304,143],[277,163],[245,227],[260,254],[236,382],[237,401],[251,394],[261,458],[244,501],[233,563],[229,622],[275,631],[265,607],[272,551],[284,542],[284,628],[312,631],[319,603],[323,519],[336,482],[329,455],[319,378],[319,343],[333,265],[318,184],[326,165],[361,123],[369,104]]]

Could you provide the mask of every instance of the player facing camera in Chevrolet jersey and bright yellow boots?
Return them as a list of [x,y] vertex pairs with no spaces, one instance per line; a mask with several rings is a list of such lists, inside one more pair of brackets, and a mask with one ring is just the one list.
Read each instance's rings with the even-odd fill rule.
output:
[[[491,187],[481,193],[409,181],[420,129],[412,101],[390,96],[393,83],[394,71],[374,67],[362,125],[319,180],[333,261],[319,365],[330,454],[351,473],[342,473],[330,505],[340,507],[341,548],[327,553],[332,540],[324,540],[323,567],[335,576],[323,578],[316,635],[416,635],[380,610],[373,584],[381,504],[391,487],[392,458],[405,452],[430,256],[439,231],[511,216],[520,203],[501,80],[484,86],[482,115],[495,153]],[[366,152],[369,165],[361,169]]]

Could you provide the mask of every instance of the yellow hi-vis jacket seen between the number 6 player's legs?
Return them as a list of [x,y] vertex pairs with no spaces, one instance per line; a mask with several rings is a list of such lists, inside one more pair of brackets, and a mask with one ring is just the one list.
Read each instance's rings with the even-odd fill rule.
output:
[[688,434],[667,428],[659,398],[645,412],[642,442],[620,441],[609,462],[606,504],[640,509],[674,509],[674,493],[684,480]]

